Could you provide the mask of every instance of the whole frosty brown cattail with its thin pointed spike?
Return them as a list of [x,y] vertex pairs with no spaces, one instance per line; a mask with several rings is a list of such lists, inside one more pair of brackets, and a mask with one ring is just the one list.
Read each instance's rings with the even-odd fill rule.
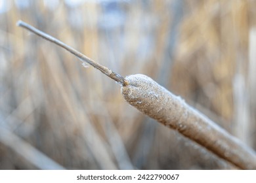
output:
[[187,105],[181,97],[173,95],[160,86],[152,78],[145,75],[130,75],[124,78],[32,25],[22,21],[18,21],[17,25],[68,50],[83,62],[83,66],[86,67],[88,63],[119,82],[124,99],[144,114],[179,131],[185,137],[240,169],[256,169],[256,154],[251,148],[209,120],[207,116]]

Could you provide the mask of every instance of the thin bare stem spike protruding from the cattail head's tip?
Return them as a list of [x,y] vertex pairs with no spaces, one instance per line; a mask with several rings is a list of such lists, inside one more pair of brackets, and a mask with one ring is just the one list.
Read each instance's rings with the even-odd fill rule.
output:
[[61,46],[62,48],[68,50],[68,52],[74,54],[74,56],[77,56],[77,58],[81,59],[82,61],[85,61],[86,63],[89,63],[90,65],[92,65],[96,69],[100,70],[104,75],[112,78],[113,80],[116,80],[116,82],[119,82],[123,86],[129,85],[129,82],[127,80],[125,80],[125,78],[123,78],[123,76],[121,76],[121,75],[115,73],[114,71],[108,69],[108,67],[105,67],[103,65],[100,65],[99,63],[96,63],[95,61],[93,61],[93,59],[88,58],[87,56],[85,56],[81,52],[78,52],[77,50],[75,50],[71,46],[68,46],[64,42],[59,41],[58,39],[52,37],[51,35],[48,35],[47,33],[44,33],[43,31],[40,31],[39,29],[33,27],[30,24],[27,24],[26,22],[23,22],[22,20],[19,20],[16,23],[16,25],[19,26],[19,27],[23,27],[23,28],[27,29],[28,31],[31,31],[32,33],[35,33],[36,35],[39,35],[39,37],[42,37],[43,39],[46,39],[47,41],[51,41],[54,44],[57,44],[58,46]]

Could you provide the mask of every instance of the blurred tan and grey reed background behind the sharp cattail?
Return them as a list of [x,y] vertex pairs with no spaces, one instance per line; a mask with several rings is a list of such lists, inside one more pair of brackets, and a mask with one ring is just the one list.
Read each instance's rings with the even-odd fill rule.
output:
[[256,1],[0,0],[0,169],[236,169],[125,103],[148,75],[256,148]]

